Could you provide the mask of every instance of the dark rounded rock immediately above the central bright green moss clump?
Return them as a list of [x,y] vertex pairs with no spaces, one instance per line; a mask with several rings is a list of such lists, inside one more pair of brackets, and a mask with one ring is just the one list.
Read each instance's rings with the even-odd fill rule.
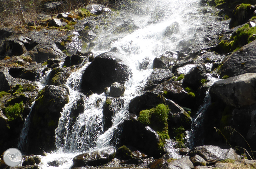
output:
[[163,102],[164,99],[158,96],[158,94],[146,92],[141,96],[136,96],[133,98],[130,101],[128,110],[131,114],[139,115],[141,110],[151,109]]

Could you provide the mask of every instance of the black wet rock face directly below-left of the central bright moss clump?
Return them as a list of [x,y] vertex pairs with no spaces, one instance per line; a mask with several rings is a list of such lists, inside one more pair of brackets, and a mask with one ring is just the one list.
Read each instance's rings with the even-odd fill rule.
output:
[[160,158],[161,150],[158,149],[158,134],[149,126],[138,122],[134,117],[123,122],[123,130],[120,135],[120,145],[133,146],[149,156]]

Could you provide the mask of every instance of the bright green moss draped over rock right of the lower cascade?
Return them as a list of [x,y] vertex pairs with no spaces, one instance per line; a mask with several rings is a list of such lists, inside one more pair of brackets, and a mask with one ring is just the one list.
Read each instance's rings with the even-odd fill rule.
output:
[[138,117],[138,120],[149,125],[153,130],[158,133],[160,137],[160,142],[158,143],[158,148],[163,149],[165,145],[165,139],[170,139],[168,135],[168,112],[170,109],[164,104],[158,104],[156,108],[150,110],[142,110]]

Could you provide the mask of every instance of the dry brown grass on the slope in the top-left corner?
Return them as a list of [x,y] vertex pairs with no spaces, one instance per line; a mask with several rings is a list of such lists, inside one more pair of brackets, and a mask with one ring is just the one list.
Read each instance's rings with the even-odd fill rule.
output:
[[[36,21],[38,14],[55,15],[85,8],[86,5],[93,3],[108,5],[108,0],[66,0],[57,10],[45,11],[43,5],[48,1],[57,2],[60,0],[20,0],[25,22]],[[0,0],[0,18],[0,28],[22,25],[18,0]]]

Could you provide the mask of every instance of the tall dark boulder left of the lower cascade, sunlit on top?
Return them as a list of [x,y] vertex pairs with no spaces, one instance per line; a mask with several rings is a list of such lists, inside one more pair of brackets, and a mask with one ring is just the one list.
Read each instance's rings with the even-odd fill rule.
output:
[[39,92],[30,114],[28,154],[42,154],[55,149],[55,129],[67,102],[68,91],[65,88],[47,85]]

